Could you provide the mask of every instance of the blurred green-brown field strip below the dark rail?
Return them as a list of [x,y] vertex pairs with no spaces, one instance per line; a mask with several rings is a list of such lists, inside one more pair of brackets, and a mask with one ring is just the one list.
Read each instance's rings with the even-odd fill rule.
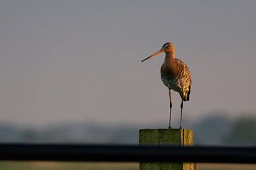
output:
[[[138,163],[0,162],[1,170],[139,170]],[[253,164],[197,164],[197,170],[252,170]]]

